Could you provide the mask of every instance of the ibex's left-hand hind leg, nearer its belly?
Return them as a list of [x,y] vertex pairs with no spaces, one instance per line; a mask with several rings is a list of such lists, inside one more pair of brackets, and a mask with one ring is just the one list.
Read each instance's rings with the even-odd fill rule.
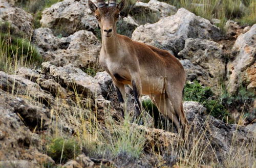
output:
[[170,103],[170,100],[168,99],[168,96],[165,93],[156,95],[154,98],[152,98],[152,101],[157,106],[162,115],[172,120],[177,131],[179,131],[179,120],[175,114],[172,104]]

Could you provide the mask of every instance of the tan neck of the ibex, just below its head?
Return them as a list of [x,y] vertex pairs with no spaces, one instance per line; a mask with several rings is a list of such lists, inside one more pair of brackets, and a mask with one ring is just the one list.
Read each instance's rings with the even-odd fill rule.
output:
[[119,46],[119,40],[116,33],[114,33],[112,37],[101,36],[101,38],[102,38],[102,47],[105,53],[114,54],[117,52],[118,46]]

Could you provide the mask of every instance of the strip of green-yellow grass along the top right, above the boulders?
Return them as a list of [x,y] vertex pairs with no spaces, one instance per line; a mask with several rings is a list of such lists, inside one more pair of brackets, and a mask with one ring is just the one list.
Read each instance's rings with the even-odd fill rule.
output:
[[186,8],[198,16],[206,19],[220,19],[220,27],[224,27],[225,20],[236,20],[241,24],[256,23],[256,3],[253,0],[161,0],[177,8]]

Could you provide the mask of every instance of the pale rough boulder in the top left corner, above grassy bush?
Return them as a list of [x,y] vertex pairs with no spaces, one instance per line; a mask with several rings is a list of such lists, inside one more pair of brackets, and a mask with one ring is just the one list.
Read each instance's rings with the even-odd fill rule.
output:
[[0,1],[0,22],[8,22],[16,33],[23,32],[28,38],[32,36],[33,16],[6,1]]

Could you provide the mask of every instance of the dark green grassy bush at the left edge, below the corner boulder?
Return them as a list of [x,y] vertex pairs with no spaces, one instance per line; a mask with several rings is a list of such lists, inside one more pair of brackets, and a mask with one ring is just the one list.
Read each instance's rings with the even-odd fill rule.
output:
[[17,66],[36,67],[42,62],[36,47],[9,23],[0,23],[0,32],[0,70],[14,72]]

